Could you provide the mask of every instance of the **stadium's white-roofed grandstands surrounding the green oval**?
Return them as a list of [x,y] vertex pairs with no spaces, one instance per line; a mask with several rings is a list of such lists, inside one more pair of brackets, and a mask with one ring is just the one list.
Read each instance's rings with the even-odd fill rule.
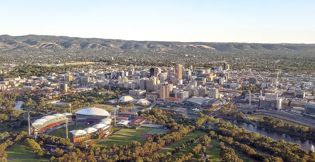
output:
[[72,118],[71,113],[53,114],[43,116],[35,120],[31,124],[31,130],[35,138],[38,134],[49,134],[57,128],[76,124],[94,124],[91,127],[82,130],[72,130],[73,142],[85,140],[87,138],[104,138],[111,133],[111,114],[106,110],[89,107],[75,112],[75,118]]

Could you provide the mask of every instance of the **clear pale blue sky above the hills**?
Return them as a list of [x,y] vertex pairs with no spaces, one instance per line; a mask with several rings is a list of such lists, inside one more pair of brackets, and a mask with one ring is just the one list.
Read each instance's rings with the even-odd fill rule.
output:
[[314,0],[0,1],[0,35],[315,43]]

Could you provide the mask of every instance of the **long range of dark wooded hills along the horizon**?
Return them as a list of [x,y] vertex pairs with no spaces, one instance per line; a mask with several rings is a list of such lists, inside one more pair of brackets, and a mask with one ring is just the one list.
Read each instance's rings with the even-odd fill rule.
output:
[[315,44],[261,44],[261,43],[205,43],[205,42],[163,42],[134,41],[99,38],[78,38],[50,35],[0,36],[0,48],[4,50],[21,48],[117,48],[117,49],[197,49],[197,50],[314,50]]

